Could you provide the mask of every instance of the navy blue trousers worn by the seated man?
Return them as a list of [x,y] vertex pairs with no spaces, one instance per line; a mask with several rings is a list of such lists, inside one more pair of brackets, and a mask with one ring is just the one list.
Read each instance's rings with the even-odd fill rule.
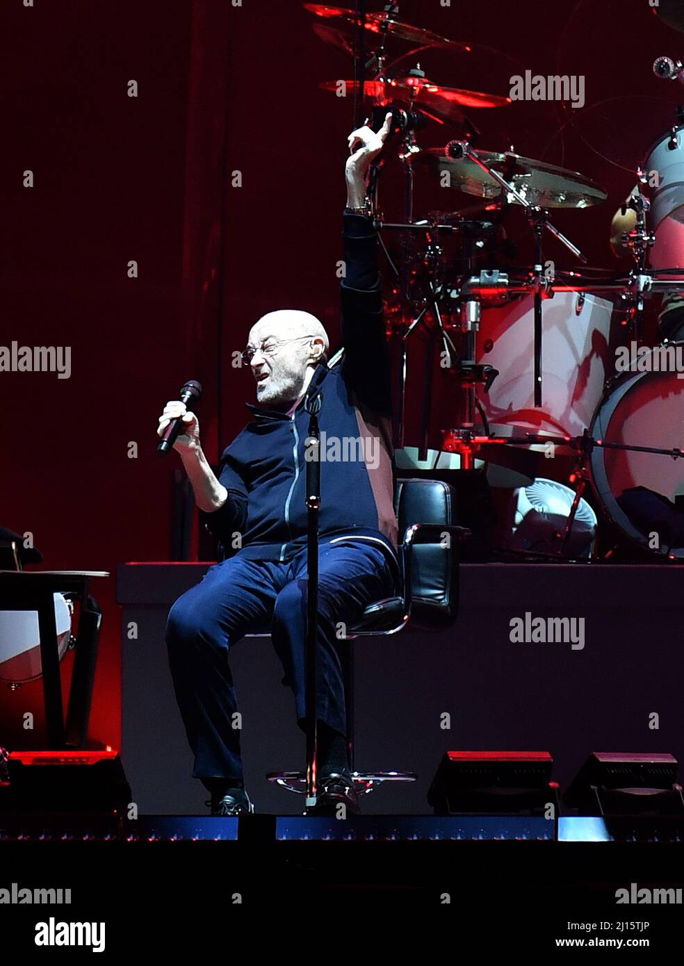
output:
[[[346,732],[340,622],[392,595],[394,575],[380,547],[360,541],[321,544],[317,718]],[[271,628],[271,641],[305,725],[306,551],[289,562],[231,557],[185,591],[166,625],[169,667],[194,754],[194,778],[242,779],[237,696],[228,652],[245,634]]]

